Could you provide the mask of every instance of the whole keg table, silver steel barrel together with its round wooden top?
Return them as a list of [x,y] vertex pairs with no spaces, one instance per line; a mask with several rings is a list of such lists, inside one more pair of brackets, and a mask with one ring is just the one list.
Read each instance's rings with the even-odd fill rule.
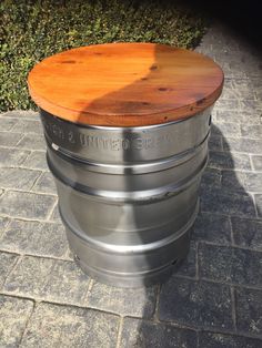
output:
[[121,287],[185,258],[223,72],[157,43],[81,47],[29,73],[59,211],[80,267]]

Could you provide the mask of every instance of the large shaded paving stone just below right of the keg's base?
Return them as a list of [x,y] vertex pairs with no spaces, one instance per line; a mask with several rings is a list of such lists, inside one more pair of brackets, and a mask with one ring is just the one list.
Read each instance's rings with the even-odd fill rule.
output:
[[172,277],[162,286],[159,316],[191,327],[232,329],[230,287]]

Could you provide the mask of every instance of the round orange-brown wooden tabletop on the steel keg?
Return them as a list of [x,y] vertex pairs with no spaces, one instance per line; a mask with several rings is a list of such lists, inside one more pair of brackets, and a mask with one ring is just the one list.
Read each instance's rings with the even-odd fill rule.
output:
[[200,53],[154,43],[81,47],[44,59],[28,78],[43,110],[90,125],[140,126],[212,105],[223,72]]

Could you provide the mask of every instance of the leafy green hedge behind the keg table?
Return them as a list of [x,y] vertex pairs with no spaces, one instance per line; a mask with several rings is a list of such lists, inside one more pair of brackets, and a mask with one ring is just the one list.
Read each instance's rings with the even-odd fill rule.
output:
[[26,82],[29,70],[66,49],[115,41],[193,48],[203,35],[205,22],[192,12],[167,0],[3,0],[0,111],[34,109]]

